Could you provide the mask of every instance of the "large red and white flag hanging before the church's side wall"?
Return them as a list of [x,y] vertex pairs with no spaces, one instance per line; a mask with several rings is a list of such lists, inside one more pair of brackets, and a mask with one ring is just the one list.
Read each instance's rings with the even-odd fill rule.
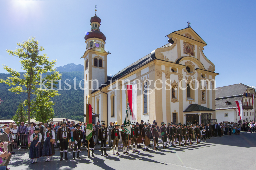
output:
[[137,115],[137,85],[127,84],[127,96],[130,110],[132,112],[132,120],[136,120]]

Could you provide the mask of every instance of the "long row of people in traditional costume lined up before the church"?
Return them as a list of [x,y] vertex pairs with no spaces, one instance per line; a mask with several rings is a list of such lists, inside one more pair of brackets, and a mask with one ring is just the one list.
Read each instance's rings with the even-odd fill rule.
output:
[[[148,123],[143,120],[141,120],[141,123],[132,122],[130,133],[124,128],[124,125],[121,125],[121,128],[119,128],[120,125],[118,122],[114,122],[113,125],[112,122],[110,122],[110,125],[106,128],[105,121],[101,121],[101,127],[98,125],[97,131],[95,131],[94,126],[95,123],[93,123],[92,137],[85,142],[88,157],[90,157],[90,154],[92,157],[95,157],[94,145],[96,144],[95,141],[97,142],[97,139],[95,140],[96,133],[98,133],[97,138],[101,145],[101,156],[103,156],[103,150],[104,155],[108,156],[106,153],[106,143],[108,140],[109,146],[113,149],[113,155],[119,155],[119,140],[121,140],[123,144],[123,154],[127,154],[127,147],[130,145],[132,147],[132,153],[140,152],[137,148],[142,148],[141,144],[143,144],[144,151],[149,151],[148,147],[151,147],[150,140],[153,140],[154,150],[158,150],[158,138],[162,138],[163,148],[168,148],[169,146],[167,147],[167,145],[176,147],[175,144],[178,144],[178,146],[198,144],[200,143],[200,137],[205,139],[207,132],[205,126],[199,128],[198,124],[189,124],[186,126],[185,124],[174,124],[171,122],[166,126],[166,123],[162,122],[159,127],[158,123],[154,121],[151,127],[149,127]],[[57,141],[57,144],[60,145],[60,161],[63,160],[63,154],[65,156],[64,159],[68,160],[68,146],[71,139],[74,141],[73,160],[75,157],[80,158],[80,148],[82,143],[84,143],[83,131],[86,129],[86,124],[84,124],[84,126],[76,124],[75,129],[72,130],[72,136],[71,130],[67,126],[67,120],[60,122],[60,127],[57,129],[57,135],[55,135],[55,131],[53,130],[54,125],[51,123],[48,124],[46,128],[47,130],[44,133],[44,140],[42,140],[40,128],[37,126],[34,129],[34,133],[30,136],[29,158],[33,159],[32,164],[37,163],[37,158],[41,156],[46,156],[45,162],[50,162],[51,156],[55,154],[55,140]],[[196,140],[195,143],[193,143],[194,139]],[[43,146],[41,145],[41,141],[43,141]],[[92,153],[90,153],[90,149]]]

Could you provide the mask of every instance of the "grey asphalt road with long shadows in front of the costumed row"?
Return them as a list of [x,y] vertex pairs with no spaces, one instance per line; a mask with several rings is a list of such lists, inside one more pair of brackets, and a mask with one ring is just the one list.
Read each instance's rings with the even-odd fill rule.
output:
[[[208,139],[207,142],[192,146],[177,147],[175,149],[161,149],[140,153],[113,155],[112,150],[107,151],[109,156],[100,156],[100,151],[95,151],[95,158],[87,158],[87,153],[82,151],[81,159],[59,161],[60,153],[52,156],[51,161],[45,163],[45,157],[40,157],[37,164],[31,164],[27,152],[16,152],[12,156],[9,168],[11,170],[55,170],[55,169],[253,169],[256,167],[255,147],[256,134],[244,133],[241,135],[223,136]],[[82,155],[82,156],[81,156]]]

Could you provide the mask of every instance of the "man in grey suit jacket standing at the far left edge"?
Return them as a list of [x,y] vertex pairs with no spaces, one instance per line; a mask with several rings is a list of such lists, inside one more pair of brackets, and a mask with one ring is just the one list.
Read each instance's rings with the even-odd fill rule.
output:
[[[4,133],[2,133],[0,135],[0,142],[7,142],[8,143],[8,147],[7,147],[8,151],[11,151],[11,152],[13,151],[12,142],[14,142],[14,140],[13,140],[12,135],[10,134],[9,127],[4,128]],[[10,168],[7,168],[7,165],[9,164],[11,157],[12,157],[12,154],[10,154],[9,156],[6,156],[3,159],[3,163],[0,166],[6,166],[6,169],[10,169]]]

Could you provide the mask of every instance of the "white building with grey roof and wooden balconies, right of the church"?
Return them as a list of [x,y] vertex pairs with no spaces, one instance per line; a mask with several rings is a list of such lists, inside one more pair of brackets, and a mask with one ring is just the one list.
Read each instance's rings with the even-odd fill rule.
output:
[[[217,122],[255,121],[255,89],[242,83],[216,88],[216,119]],[[243,120],[240,120],[236,100],[242,102]]]

